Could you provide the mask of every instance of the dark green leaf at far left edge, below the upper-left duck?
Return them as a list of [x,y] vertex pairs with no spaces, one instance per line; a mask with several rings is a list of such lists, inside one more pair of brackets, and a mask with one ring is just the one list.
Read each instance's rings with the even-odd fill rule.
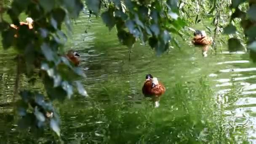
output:
[[2,32],[2,37],[3,37],[2,44],[3,44],[3,48],[5,50],[10,48],[11,45],[13,44],[15,33],[16,33],[16,29],[8,29],[8,30]]

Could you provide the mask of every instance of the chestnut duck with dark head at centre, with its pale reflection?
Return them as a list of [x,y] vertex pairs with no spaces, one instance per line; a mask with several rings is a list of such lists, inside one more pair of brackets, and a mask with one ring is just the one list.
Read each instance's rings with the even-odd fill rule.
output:
[[145,97],[151,97],[155,102],[155,107],[159,107],[160,96],[165,93],[165,86],[157,80],[157,77],[147,74],[142,93]]

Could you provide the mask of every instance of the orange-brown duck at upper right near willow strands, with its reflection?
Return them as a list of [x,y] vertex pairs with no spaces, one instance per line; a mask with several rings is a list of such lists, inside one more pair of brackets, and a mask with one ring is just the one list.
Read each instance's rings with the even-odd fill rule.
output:
[[208,37],[204,30],[203,31],[195,30],[194,38],[192,40],[192,43],[194,45],[203,45],[202,54],[203,54],[204,57],[207,57],[207,52],[209,50],[209,45],[211,45],[212,42],[213,42],[212,37]]

